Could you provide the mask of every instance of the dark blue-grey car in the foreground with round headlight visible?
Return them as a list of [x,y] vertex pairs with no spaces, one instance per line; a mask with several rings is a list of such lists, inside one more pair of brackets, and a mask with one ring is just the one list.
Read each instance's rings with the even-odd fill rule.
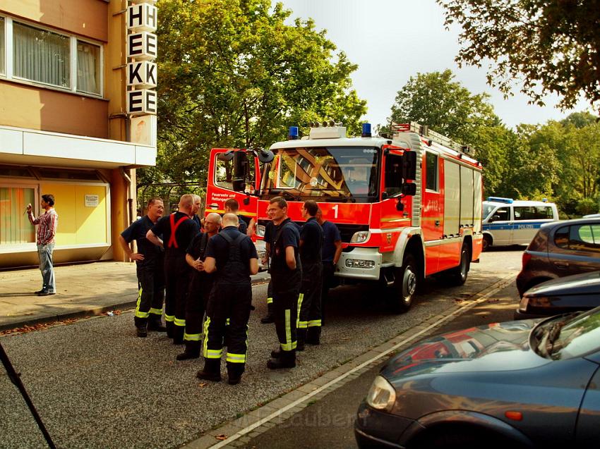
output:
[[360,448],[598,448],[600,308],[446,333],[390,359]]

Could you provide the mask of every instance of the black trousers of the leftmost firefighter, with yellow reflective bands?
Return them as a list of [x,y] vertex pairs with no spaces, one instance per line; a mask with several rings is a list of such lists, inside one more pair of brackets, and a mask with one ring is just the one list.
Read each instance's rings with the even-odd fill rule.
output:
[[164,266],[162,257],[152,263],[140,264],[136,262],[138,276],[138,303],[136,316],[148,318],[150,314],[162,315],[162,302],[164,300]]

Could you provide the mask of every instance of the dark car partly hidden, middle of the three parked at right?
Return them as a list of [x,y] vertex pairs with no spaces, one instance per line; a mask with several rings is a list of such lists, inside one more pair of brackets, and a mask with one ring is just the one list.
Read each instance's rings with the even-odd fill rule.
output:
[[600,306],[600,271],[546,281],[527,290],[515,319],[539,318]]

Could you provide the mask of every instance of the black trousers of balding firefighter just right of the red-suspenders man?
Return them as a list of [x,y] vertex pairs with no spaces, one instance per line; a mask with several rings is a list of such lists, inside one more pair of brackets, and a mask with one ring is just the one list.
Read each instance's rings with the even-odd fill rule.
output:
[[186,300],[186,331],[184,333],[184,341],[200,342],[200,338],[202,338],[202,319],[208,305],[208,297],[211,289],[212,276],[193,270]]

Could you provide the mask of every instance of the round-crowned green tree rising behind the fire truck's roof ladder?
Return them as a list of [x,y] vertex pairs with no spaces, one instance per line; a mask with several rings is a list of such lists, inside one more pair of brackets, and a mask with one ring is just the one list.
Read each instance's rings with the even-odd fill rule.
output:
[[472,94],[454,78],[452,70],[417,73],[398,91],[388,121],[416,121],[464,144],[477,128],[500,124],[488,94]]

